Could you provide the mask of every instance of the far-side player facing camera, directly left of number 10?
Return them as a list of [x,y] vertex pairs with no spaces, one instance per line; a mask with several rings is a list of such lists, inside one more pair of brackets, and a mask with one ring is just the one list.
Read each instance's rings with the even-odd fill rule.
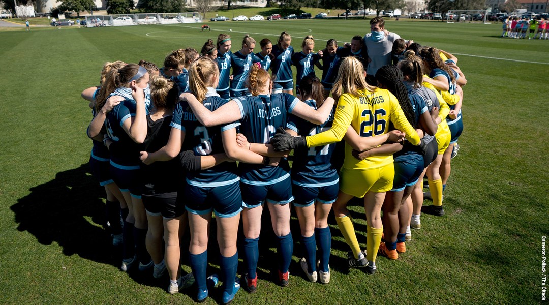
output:
[[276,46],[273,46],[271,54],[272,75],[275,77],[272,93],[294,94],[294,76],[292,72],[292,58],[294,56],[294,47],[290,46],[292,36],[284,31],[278,37]]

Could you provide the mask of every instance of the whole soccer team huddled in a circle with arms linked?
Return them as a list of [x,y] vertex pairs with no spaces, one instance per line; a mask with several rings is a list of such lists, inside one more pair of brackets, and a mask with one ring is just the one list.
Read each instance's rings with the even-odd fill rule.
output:
[[[265,207],[281,286],[289,284],[294,250],[291,206],[301,230],[300,267],[322,284],[330,282],[330,211],[350,246],[348,267],[369,274],[378,253],[397,259],[406,252],[422,211],[444,215],[466,78],[452,54],[400,38],[382,18],[370,26],[365,36],[344,46],[330,39],[317,53],[312,36],[294,52],[287,32],[274,44],[262,39],[257,53],[255,39],[245,35],[233,53],[231,36],[221,33],[200,54],[174,50],[160,69],[145,60],[105,64],[100,86],[82,97],[93,114],[89,163],[107,192],[121,269],[137,267],[154,278],[167,272],[171,294],[195,284],[197,302],[219,286],[227,304],[240,285],[257,289]],[[422,210],[425,175],[433,205]],[[365,250],[347,209],[354,197],[364,200]],[[219,275],[206,274],[212,214]],[[187,228],[192,273],[182,274]]]

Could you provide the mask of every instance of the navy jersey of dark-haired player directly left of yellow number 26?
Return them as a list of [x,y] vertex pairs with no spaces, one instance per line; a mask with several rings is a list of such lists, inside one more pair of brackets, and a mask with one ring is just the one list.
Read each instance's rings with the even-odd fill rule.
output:
[[[305,100],[304,103],[317,109],[315,100]],[[315,135],[332,127],[334,120],[335,105],[322,125],[315,125],[302,118],[290,115],[286,127],[297,132],[299,135]],[[300,148],[294,150],[294,162],[292,166],[292,183],[302,187],[324,187],[339,181],[337,169],[332,165],[330,159],[335,151],[335,143],[325,146],[311,148]]]

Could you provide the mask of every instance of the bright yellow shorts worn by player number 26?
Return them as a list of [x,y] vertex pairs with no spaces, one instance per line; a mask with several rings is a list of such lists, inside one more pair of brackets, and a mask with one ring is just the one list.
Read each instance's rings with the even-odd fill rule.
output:
[[383,193],[393,188],[395,166],[388,165],[373,168],[372,170],[349,170],[341,168],[339,190],[358,198],[364,197],[368,191]]

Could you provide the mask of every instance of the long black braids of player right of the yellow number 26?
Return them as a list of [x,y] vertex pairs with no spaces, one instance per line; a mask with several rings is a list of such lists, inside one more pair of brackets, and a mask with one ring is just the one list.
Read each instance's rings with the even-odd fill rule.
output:
[[414,129],[417,128],[416,114],[413,111],[412,102],[408,97],[408,90],[402,80],[404,76],[395,65],[385,65],[376,72],[376,78],[383,87],[393,93],[399,100],[400,108]]

